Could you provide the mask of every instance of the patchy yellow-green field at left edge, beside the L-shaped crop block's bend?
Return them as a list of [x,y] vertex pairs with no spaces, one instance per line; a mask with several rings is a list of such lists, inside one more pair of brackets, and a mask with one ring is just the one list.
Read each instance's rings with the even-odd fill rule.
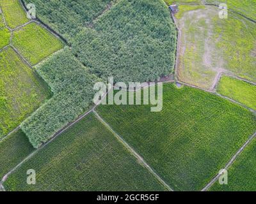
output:
[[49,90],[12,48],[0,52],[0,138],[49,96]]

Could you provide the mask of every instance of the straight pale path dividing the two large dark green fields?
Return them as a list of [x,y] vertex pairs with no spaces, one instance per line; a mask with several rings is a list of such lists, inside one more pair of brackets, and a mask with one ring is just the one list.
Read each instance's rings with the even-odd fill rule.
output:
[[150,173],[152,173],[152,175],[154,175],[154,177],[156,177],[156,179],[161,182],[161,184],[163,184],[163,186],[165,186],[169,191],[173,191],[173,189],[168,185],[166,184],[166,182],[164,182],[163,179],[161,179],[161,177],[159,177],[159,175],[157,175],[156,171],[154,171],[146,162],[145,160],[143,159],[143,157],[140,156],[140,154],[138,154],[134,149],[132,149],[132,147],[127,143],[125,142],[125,140],[120,136],[118,135],[118,133],[116,133],[112,128],[111,126],[109,126],[109,124],[104,120],[102,119],[102,117],[100,117],[100,115],[95,111],[95,109],[93,109],[93,113],[95,114],[95,116],[97,117],[97,119],[104,125],[106,126],[106,128],[109,129],[109,131],[111,131],[111,133],[113,133],[113,135],[116,137],[116,139],[121,142],[128,150],[129,152],[131,152],[133,154],[134,157],[136,157],[142,164],[143,166],[145,166],[145,168],[147,168],[148,171],[150,171]]

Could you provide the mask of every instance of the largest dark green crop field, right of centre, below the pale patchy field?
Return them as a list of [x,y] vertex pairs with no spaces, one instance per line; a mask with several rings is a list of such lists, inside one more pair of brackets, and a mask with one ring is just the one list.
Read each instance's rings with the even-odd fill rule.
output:
[[163,87],[163,110],[101,105],[97,112],[175,191],[199,191],[256,130],[253,113],[191,87]]

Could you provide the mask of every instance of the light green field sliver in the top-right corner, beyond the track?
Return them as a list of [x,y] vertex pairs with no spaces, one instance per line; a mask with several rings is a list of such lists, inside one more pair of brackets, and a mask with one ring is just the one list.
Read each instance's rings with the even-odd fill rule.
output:
[[206,0],[206,3],[219,5],[221,3],[226,3],[228,9],[237,11],[245,15],[246,17],[256,20],[256,1],[255,0]]

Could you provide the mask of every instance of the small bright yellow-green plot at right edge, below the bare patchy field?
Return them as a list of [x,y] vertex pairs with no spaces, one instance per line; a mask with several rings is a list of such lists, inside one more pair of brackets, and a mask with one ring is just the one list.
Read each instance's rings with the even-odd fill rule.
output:
[[220,79],[217,91],[223,96],[232,98],[256,110],[256,86],[253,84],[223,76]]

